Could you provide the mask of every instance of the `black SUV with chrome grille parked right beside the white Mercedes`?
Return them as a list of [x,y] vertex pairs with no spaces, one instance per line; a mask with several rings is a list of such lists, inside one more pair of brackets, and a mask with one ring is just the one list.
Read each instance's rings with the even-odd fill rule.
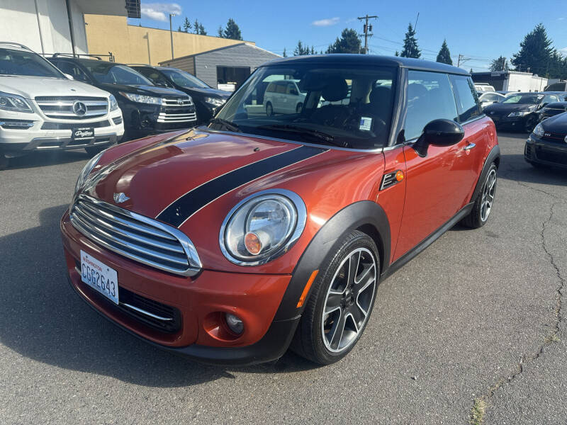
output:
[[58,55],[48,60],[77,81],[92,84],[116,97],[124,117],[124,141],[191,128],[197,123],[191,97],[181,91],[155,86],[124,64]]

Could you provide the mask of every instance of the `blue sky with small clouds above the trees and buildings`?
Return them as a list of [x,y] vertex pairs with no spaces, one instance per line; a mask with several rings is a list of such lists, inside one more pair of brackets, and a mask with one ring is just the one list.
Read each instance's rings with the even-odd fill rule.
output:
[[543,23],[554,47],[567,55],[566,0],[500,0],[492,3],[459,0],[405,1],[142,1],[142,19],[130,23],[169,29],[168,13],[176,29],[184,16],[198,19],[208,35],[216,35],[218,26],[228,18],[235,19],[242,37],[279,55],[286,47],[293,54],[297,41],[325,50],[344,28],[362,32],[357,16],[378,15],[373,22],[374,37],[370,52],[393,55],[401,50],[408,23],[415,23],[422,57],[435,60],[443,39],[447,39],[451,56],[469,58],[462,67],[481,71],[490,60],[503,55],[510,58],[520,48],[520,41],[530,30]]

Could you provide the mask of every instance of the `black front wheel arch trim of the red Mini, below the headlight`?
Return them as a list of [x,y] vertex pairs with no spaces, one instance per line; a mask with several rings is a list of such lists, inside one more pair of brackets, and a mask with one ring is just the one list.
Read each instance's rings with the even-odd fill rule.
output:
[[284,293],[279,309],[274,320],[290,319],[298,317],[303,313],[307,300],[310,297],[313,286],[305,298],[302,307],[297,307],[299,297],[303,293],[305,284],[311,273],[320,267],[328,253],[338,249],[337,242],[345,234],[353,230],[360,230],[368,234],[378,247],[381,269],[389,266],[391,233],[390,222],[383,208],[371,200],[361,200],[352,203],[339,210],[325,225],[323,225],[315,237],[303,251],[296,267],[286,293]]

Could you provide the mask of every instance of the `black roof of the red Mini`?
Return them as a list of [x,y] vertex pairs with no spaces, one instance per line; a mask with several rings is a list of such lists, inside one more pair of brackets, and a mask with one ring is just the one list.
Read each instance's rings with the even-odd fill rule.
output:
[[470,75],[462,68],[453,67],[439,62],[430,60],[412,59],[410,57],[398,56],[378,56],[378,55],[350,55],[350,54],[334,54],[334,55],[309,55],[283,57],[281,59],[271,60],[262,66],[295,64],[297,62],[313,63],[313,64],[364,64],[386,67],[401,67],[419,69],[420,71],[447,72],[448,74]]

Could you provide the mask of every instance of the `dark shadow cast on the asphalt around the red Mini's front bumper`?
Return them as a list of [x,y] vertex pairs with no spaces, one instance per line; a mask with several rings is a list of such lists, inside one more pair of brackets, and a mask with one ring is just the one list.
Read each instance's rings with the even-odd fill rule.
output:
[[203,365],[150,346],[94,312],[67,283],[59,221],[67,205],[40,211],[40,225],[0,237],[0,342],[59,368],[152,387],[181,387],[245,373],[316,368],[293,353],[247,368]]

